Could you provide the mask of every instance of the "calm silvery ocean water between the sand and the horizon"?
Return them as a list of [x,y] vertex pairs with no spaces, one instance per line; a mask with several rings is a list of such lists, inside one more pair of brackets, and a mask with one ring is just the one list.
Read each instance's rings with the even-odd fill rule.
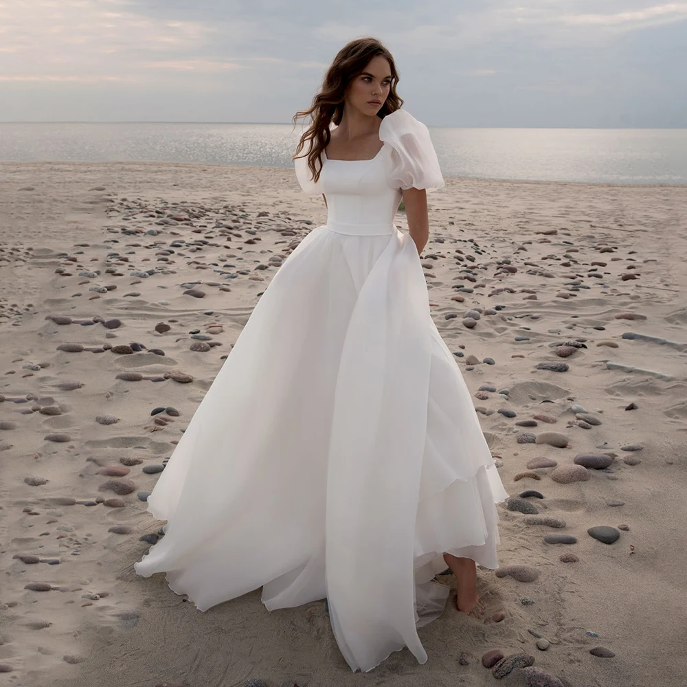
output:
[[[1,123],[0,162],[293,167],[302,125]],[[445,177],[687,184],[687,129],[430,127]]]

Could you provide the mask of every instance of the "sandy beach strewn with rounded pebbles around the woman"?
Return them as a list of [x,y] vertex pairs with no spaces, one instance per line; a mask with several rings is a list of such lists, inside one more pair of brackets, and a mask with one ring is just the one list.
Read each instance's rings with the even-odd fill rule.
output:
[[478,570],[486,620],[454,592],[419,630],[426,664],[353,674],[324,600],[202,613],[132,568],[164,524],[146,495],[324,201],[280,168],[0,181],[0,686],[523,686],[527,664],[545,687],[684,684],[687,186],[429,196],[431,311],[514,498],[501,567]]

